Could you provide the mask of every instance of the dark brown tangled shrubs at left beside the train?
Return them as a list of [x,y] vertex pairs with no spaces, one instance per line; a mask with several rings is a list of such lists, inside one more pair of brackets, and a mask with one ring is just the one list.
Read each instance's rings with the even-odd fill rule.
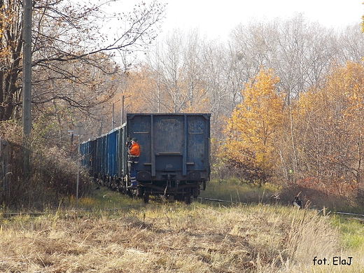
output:
[[[57,206],[64,198],[76,195],[78,166],[67,155],[67,147],[50,144],[44,139],[41,141],[36,134],[25,147],[22,129],[16,123],[1,123],[0,131],[3,144],[0,146],[2,204],[18,209],[43,209],[44,206]],[[25,160],[29,160],[28,165]],[[79,182],[79,193],[83,195],[90,190],[90,179],[81,168]]]

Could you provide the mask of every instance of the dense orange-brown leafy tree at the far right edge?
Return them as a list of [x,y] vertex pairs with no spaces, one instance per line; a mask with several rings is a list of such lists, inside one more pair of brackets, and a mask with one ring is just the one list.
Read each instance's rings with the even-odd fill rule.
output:
[[300,97],[302,176],[339,195],[364,179],[364,66],[347,62]]

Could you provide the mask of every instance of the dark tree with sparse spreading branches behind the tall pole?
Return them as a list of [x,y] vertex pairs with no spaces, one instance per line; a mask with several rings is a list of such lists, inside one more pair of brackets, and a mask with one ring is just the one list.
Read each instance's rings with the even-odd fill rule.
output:
[[[106,61],[115,51],[132,52],[153,41],[155,26],[163,18],[165,6],[155,0],[149,6],[145,3],[135,6],[130,13],[111,16],[102,9],[109,3],[34,2],[32,66],[34,84],[38,86],[34,103],[63,100],[80,109],[94,106],[92,100],[78,100],[73,96],[74,92],[64,90],[72,84],[71,90],[77,85],[96,88],[97,77],[92,75],[92,69],[85,67],[92,66],[94,73],[106,73],[111,77],[120,69]],[[0,120],[8,120],[22,104],[22,3],[1,0],[0,9]],[[120,20],[121,31],[110,40],[99,31],[99,26],[111,18]],[[59,85],[59,80],[64,80],[63,86]],[[57,88],[52,91],[45,88],[42,93],[44,87],[56,87],[55,84]]]

